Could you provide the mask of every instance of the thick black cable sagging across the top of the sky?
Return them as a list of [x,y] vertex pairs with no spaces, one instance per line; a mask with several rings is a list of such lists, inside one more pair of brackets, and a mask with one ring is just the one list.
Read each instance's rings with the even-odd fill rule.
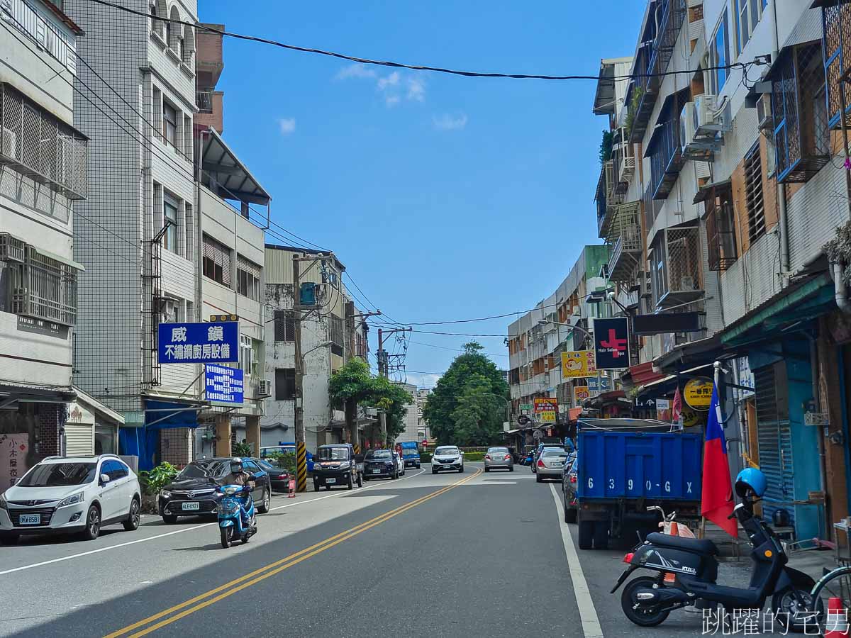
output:
[[748,66],[755,64],[755,62],[735,62],[730,65],[720,65],[720,66],[706,66],[703,69],[696,70],[683,70],[683,71],[664,71],[662,73],[635,73],[628,76],[591,76],[591,75],[569,75],[569,76],[551,76],[544,74],[527,74],[527,73],[500,73],[500,72],[482,72],[482,71],[459,71],[457,69],[447,69],[441,66],[425,66],[425,65],[410,65],[405,64],[403,62],[394,62],[391,60],[372,60],[370,58],[360,58],[355,55],[349,54],[341,54],[336,53],[334,51],[326,51],[321,48],[311,48],[311,47],[300,47],[294,44],[287,44],[278,42],[277,40],[271,40],[266,37],[259,36],[248,36],[242,33],[235,33],[232,31],[220,31],[219,29],[214,29],[208,26],[202,26],[195,24],[194,22],[188,22],[186,20],[175,20],[173,18],[165,18],[159,15],[151,15],[147,14],[143,11],[137,11],[135,9],[128,9],[127,7],[122,7],[118,4],[107,2],[107,0],[89,0],[89,2],[102,4],[106,7],[112,7],[113,9],[119,9],[121,11],[125,11],[129,14],[136,14],[145,17],[146,19],[157,20],[159,22],[171,22],[178,25],[191,26],[192,28],[199,29],[201,31],[208,31],[211,33],[216,33],[221,36],[233,37],[238,40],[248,40],[249,42],[256,42],[262,44],[269,44],[273,47],[286,48],[291,51],[299,51],[300,53],[309,53],[309,54],[317,54],[317,55],[326,55],[331,58],[337,58],[339,60],[349,60],[350,62],[357,62],[359,64],[364,65],[375,65],[375,66],[389,66],[397,69],[409,69],[411,71],[434,71],[436,73],[447,73],[449,75],[454,76],[462,76],[462,77],[502,77],[513,80],[624,80],[624,79],[633,79],[636,77],[665,77],[671,75],[683,75],[683,74],[694,74],[700,71],[716,71],[720,69],[733,69],[733,68],[741,68],[746,72]]

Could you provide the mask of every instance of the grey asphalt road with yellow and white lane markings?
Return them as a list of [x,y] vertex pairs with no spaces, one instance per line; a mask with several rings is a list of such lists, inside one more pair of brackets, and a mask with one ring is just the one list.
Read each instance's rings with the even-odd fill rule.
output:
[[0,547],[0,635],[700,635],[694,614],[655,629],[624,618],[608,594],[624,551],[576,548],[557,483],[428,467],[276,497],[230,550],[214,521],[154,516],[93,542]]

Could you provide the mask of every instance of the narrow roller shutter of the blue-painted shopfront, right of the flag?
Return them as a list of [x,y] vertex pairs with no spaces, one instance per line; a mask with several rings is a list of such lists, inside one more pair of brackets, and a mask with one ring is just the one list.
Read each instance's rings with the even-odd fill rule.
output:
[[777,362],[754,370],[754,381],[759,467],[768,480],[762,516],[770,521],[775,510],[783,509],[789,512],[794,524],[794,466],[785,363]]

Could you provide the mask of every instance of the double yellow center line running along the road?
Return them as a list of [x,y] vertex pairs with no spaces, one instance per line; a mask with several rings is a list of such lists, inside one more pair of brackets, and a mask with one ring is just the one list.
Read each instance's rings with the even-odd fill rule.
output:
[[[174,607],[168,607],[168,609],[163,609],[162,612],[157,612],[153,616],[149,616],[148,618],[142,618],[139,622],[129,624],[127,627],[123,627],[122,629],[113,631],[111,634],[106,635],[106,638],[118,638],[118,636],[128,635],[130,638],[135,638],[136,636],[148,635],[152,631],[156,631],[157,629],[160,629],[166,626],[167,624],[172,624],[180,620],[180,618],[185,618],[191,613],[195,613],[202,610],[204,607],[214,605],[216,602],[221,601],[222,599],[227,598],[230,595],[236,594],[238,591],[242,591],[248,587],[251,587],[251,585],[258,584],[261,580],[265,580],[270,576],[274,576],[277,573],[283,572],[283,570],[288,569],[289,567],[298,565],[301,561],[306,561],[308,558],[311,558],[311,556],[315,556],[325,550],[329,550],[330,548],[334,547],[334,545],[340,544],[343,541],[348,540],[349,538],[353,538],[359,533],[366,532],[368,529],[371,529],[376,525],[380,525],[385,521],[389,521],[394,516],[399,516],[400,514],[403,514],[403,512],[406,512],[411,508],[416,507],[417,505],[421,505],[427,500],[430,500],[431,498],[436,498],[437,496],[440,496],[443,493],[447,493],[454,487],[458,487],[460,485],[463,485],[467,481],[471,481],[481,473],[482,470],[476,470],[470,476],[467,476],[466,478],[461,479],[460,481],[455,481],[451,485],[437,490],[437,492],[426,494],[426,496],[417,498],[411,501],[410,503],[402,505],[401,507],[397,507],[395,510],[390,510],[385,514],[376,516],[375,518],[363,522],[360,525],[351,527],[345,532],[340,532],[339,534],[336,534],[330,538],[325,538],[323,541],[320,541],[317,544],[313,544],[310,547],[306,547],[304,550],[297,551],[294,554],[290,554],[279,561],[271,562],[264,567],[255,569],[254,572],[248,572],[244,576],[241,576],[235,580],[231,580],[231,582],[220,585],[219,587],[216,587],[213,590],[205,591],[203,594],[199,594],[194,598],[190,598],[188,601],[183,601],[179,605],[175,605]],[[139,631],[136,631],[136,629],[139,629]]]

